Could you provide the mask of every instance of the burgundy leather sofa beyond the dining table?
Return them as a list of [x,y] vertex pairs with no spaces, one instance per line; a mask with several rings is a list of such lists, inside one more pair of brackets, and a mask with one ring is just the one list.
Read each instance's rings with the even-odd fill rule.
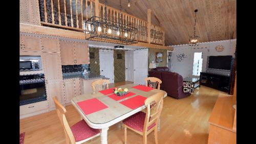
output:
[[183,78],[178,73],[169,71],[168,67],[157,67],[148,71],[148,77],[156,77],[162,81],[161,90],[176,99],[186,98],[190,93],[183,92]]

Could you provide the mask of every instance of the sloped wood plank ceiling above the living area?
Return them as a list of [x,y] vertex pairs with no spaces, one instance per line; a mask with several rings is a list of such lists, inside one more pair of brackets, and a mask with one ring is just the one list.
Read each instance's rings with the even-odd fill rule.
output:
[[[104,4],[104,0],[99,0]],[[108,6],[120,9],[118,0],[107,0]],[[121,0],[122,11],[147,20],[152,10],[152,23],[165,31],[165,45],[188,43],[194,30],[194,10],[197,12],[196,35],[200,42],[237,38],[236,0]]]

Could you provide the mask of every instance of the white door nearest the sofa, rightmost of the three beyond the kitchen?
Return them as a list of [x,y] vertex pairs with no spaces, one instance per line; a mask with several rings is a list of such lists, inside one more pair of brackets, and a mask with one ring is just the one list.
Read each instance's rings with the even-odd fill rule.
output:
[[134,83],[145,85],[148,73],[148,49],[134,51]]

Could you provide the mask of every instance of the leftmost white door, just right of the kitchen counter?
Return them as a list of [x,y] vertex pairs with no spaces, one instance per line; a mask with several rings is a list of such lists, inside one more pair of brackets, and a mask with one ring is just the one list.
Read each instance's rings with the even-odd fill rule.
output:
[[99,50],[100,75],[110,79],[114,83],[114,52],[113,50]]

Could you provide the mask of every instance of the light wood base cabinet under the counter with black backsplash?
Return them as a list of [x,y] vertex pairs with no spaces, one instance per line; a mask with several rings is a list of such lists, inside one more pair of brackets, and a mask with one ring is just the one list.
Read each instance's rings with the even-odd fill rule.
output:
[[71,99],[76,97],[77,95],[81,95],[81,79],[80,78],[74,78],[74,79],[66,79],[64,80],[64,93],[65,93],[65,104],[69,105],[71,102]]

